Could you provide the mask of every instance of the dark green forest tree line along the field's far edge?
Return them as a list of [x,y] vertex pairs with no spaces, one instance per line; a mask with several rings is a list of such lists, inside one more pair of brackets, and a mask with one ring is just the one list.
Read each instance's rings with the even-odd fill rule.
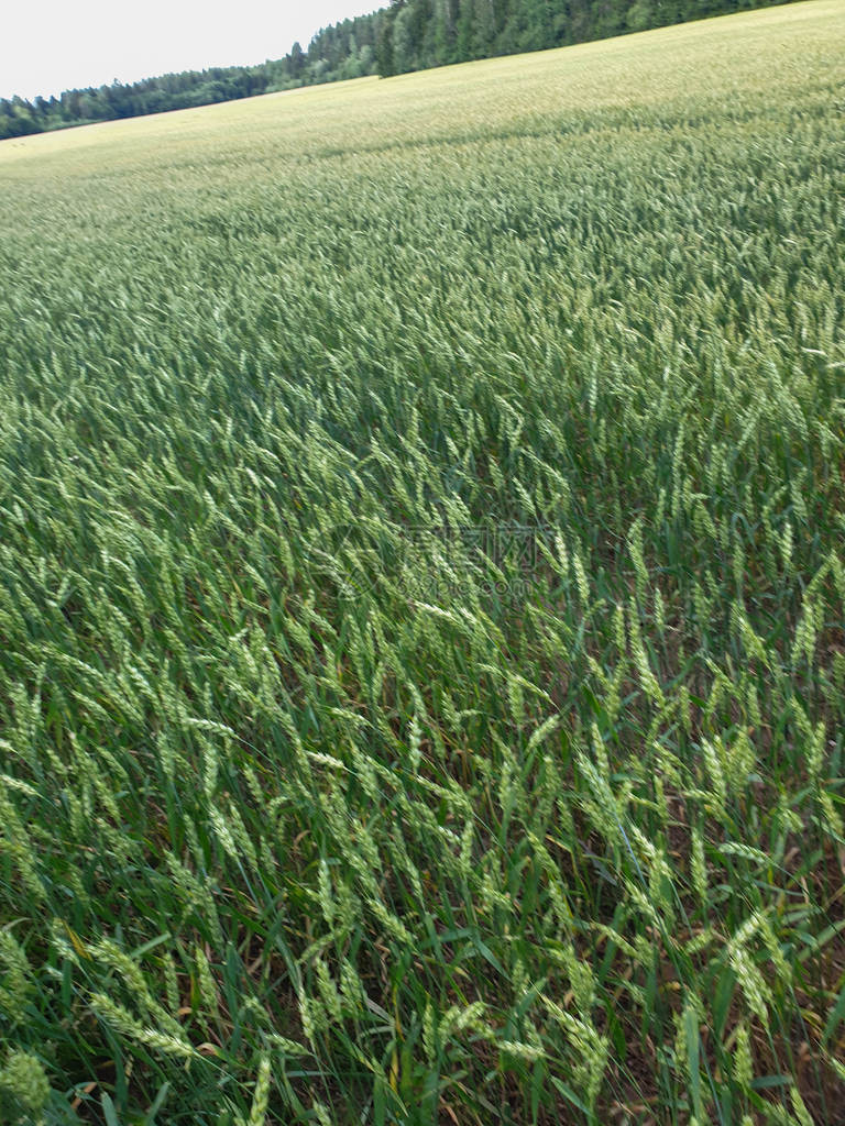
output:
[[183,71],[141,82],[0,98],[0,141],[92,122],[187,109],[300,86],[389,78],[492,55],[542,51],[782,0],[392,0],[318,32],[303,51],[256,66]]

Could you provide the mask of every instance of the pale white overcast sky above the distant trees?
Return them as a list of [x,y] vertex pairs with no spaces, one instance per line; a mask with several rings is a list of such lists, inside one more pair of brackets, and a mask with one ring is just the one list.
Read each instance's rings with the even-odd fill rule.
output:
[[250,65],[386,0],[0,0],[0,98]]

